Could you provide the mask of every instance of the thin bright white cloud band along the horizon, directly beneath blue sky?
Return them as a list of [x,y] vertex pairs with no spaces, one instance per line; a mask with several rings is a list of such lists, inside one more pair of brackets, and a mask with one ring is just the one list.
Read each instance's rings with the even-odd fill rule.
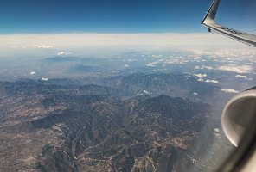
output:
[[[37,45],[52,47],[59,45],[215,45],[216,41],[221,45],[234,45],[235,42],[223,38],[219,34],[2,34],[1,43],[25,43],[25,45]],[[15,41],[15,40],[22,40]],[[7,41],[7,42],[6,42]],[[41,42],[38,44],[38,42]],[[0,44],[1,44],[0,43]],[[136,47],[136,46],[135,46]]]

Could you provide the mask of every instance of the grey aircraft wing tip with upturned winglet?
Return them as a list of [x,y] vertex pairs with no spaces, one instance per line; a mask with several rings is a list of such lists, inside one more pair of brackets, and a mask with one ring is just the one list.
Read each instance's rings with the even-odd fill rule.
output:
[[256,47],[256,35],[247,34],[239,30],[235,30],[234,28],[227,28],[215,22],[215,15],[219,7],[219,3],[220,3],[220,0],[214,0],[210,9],[208,9],[208,13],[205,15],[204,19],[202,20],[201,24],[207,27],[209,32],[211,31],[211,29],[213,29],[216,32],[220,34],[224,34],[231,39],[238,40],[249,46]]

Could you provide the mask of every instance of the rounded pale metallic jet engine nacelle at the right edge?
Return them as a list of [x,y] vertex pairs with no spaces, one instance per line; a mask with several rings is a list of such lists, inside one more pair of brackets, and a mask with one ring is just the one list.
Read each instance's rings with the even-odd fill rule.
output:
[[[222,128],[232,144],[238,146],[246,129],[255,123],[256,87],[235,95],[224,107]],[[249,132],[249,131],[248,131]]]

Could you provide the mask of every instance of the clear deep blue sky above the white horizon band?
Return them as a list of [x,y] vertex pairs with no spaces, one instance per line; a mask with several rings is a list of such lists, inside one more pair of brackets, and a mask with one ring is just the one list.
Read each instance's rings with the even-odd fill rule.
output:
[[[212,0],[2,0],[0,34],[204,33]],[[255,0],[222,0],[217,21],[255,33]]]

